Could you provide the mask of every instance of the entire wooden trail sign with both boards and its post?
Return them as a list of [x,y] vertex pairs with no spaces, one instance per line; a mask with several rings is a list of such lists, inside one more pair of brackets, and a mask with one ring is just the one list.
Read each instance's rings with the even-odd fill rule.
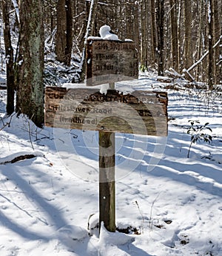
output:
[[133,42],[88,40],[87,85],[97,88],[45,90],[45,125],[98,131],[99,223],[115,232],[115,132],[167,135],[167,94],[158,91],[115,91],[115,82],[138,78]]

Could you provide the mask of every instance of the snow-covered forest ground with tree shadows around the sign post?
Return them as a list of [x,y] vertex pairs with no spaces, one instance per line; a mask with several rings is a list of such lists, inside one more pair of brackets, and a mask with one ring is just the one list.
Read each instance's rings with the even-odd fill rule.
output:
[[[116,85],[164,87],[155,76]],[[99,237],[87,230],[98,216],[98,134],[4,116],[0,91],[0,255],[222,255],[222,99],[166,91],[168,137],[116,134],[116,226],[130,232],[102,226]],[[190,119],[209,122],[212,143],[193,144],[187,158]]]

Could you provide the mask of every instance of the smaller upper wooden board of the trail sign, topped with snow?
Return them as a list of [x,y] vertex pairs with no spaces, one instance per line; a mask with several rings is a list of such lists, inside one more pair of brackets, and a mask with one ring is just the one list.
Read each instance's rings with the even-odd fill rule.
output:
[[138,79],[138,50],[131,41],[87,40],[87,85]]

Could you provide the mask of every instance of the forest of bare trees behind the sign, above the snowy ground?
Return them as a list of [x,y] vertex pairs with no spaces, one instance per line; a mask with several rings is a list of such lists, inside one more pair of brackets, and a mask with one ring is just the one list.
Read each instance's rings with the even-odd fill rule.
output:
[[221,83],[221,10],[221,0],[1,0],[7,114],[16,110],[41,126],[44,86],[56,76],[84,79],[87,36],[99,36],[104,24],[135,42],[141,70],[212,90]]

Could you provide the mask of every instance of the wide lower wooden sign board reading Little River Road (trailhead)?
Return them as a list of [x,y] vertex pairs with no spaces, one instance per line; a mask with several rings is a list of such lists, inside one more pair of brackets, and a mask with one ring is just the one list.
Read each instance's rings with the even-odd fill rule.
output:
[[167,135],[167,94],[94,88],[45,90],[45,125],[90,131]]

